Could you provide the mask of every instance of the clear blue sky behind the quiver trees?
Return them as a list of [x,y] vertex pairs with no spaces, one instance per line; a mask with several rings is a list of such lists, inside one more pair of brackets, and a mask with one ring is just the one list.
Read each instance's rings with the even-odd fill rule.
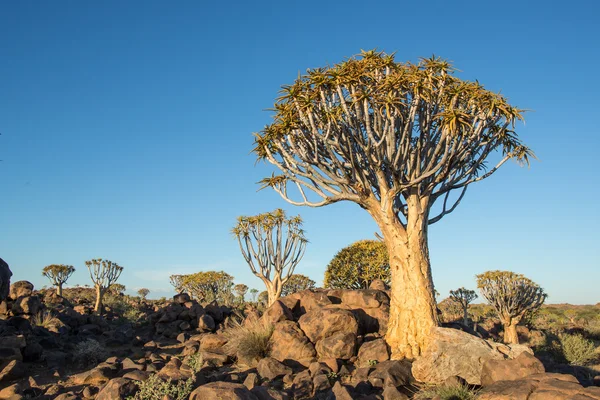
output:
[[1,2],[0,257],[38,287],[53,263],[89,283],[84,261],[101,257],[151,297],[171,294],[170,274],[211,269],[262,290],[230,229],[282,207],[310,240],[297,272],[321,283],[339,249],[377,228],[352,204],[257,192],[272,169],[254,165],[252,132],[299,71],[377,47],[450,59],[534,110],[518,133],[540,161],[473,185],[430,229],[442,295],[508,269],[549,302],[600,302],[598,4]]

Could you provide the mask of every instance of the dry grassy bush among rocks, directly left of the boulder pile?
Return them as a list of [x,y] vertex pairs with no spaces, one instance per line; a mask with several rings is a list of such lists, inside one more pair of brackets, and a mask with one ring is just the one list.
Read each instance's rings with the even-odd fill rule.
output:
[[271,354],[273,325],[262,320],[247,320],[244,324],[235,323],[225,330],[227,338],[225,351],[237,357],[238,363],[253,367]]

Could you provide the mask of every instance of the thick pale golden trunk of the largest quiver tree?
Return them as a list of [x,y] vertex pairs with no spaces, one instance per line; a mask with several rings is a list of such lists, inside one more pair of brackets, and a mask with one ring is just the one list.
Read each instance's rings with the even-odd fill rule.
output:
[[390,256],[391,301],[386,341],[392,359],[414,359],[424,351],[431,329],[439,323],[427,246],[427,206],[409,204],[406,227],[390,211],[372,215]]

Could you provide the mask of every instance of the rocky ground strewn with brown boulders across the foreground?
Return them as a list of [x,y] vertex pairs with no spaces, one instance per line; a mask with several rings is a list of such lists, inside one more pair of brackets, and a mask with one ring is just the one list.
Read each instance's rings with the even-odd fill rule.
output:
[[[94,315],[84,294],[69,301],[26,281],[10,286],[0,303],[0,399],[442,399],[424,390],[438,385],[487,400],[600,400],[591,380],[547,373],[529,347],[459,329],[437,328],[412,363],[389,360],[382,286],[308,290],[264,313],[180,294],[140,301],[135,322]],[[245,351],[246,342],[232,349],[232,331],[260,326],[273,326],[268,354]],[[154,394],[140,382],[153,382]]]

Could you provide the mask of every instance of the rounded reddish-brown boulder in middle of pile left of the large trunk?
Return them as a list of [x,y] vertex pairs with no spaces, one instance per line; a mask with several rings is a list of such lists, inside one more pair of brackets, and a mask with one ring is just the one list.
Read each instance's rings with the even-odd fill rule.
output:
[[356,318],[352,312],[343,309],[315,309],[300,317],[298,324],[313,343],[336,333],[358,334]]

